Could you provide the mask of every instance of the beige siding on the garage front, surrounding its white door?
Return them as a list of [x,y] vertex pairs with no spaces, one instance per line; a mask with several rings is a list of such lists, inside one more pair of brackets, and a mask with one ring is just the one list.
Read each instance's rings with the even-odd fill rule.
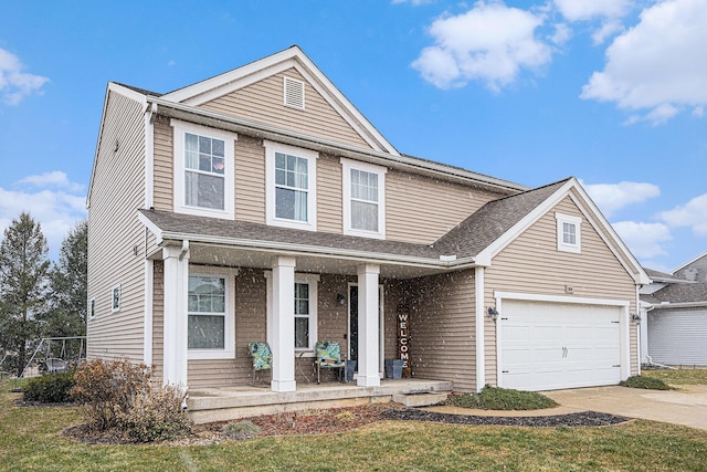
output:
[[[557,250],[555,212],[581,217],[581,253]],[[631,302],[635,313],[635,285],[574,202],[564,198],[515,239],[485,269],[485,304],[494,305],[494,292],[610,298]],[[564,286],[572,286],[572,295]],[[493,325],[492,325],[493,326]],[[631,373],[637,374],[636,331],[630,331]],[[496,382],[495,331],[485,331],[486,381]]]

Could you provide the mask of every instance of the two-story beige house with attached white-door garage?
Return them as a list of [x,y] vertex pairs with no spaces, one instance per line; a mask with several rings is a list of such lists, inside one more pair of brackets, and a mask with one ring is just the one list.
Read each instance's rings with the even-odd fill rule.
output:
[[246,385],[267,340],[293,391],[335,340],[376,387],[401,318],[411,375],[458,391],[640,371],[650,280],[577,179],[400,154],[297,46],[168,94],[109,83],[88,213],[88,356],[166,382]]

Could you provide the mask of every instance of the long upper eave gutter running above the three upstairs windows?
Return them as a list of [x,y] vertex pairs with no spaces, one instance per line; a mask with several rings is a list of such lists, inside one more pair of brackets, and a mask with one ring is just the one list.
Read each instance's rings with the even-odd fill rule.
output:
[[212,126],[230,132],[242,133],[263,139],[277,140],[293,146],[306,147],[340,157],[349,157],[379,166],[400,168],[415,174],[432,175],[444,180],[458,181],[466,185],[485,186],[505,193],[521,192],[529,187],[503,179],[472,172],[471,170],[451,168],[442,164],[415,159],[408,156],[394,156],[388,153],[365,149],[358,146],[341,144],[329,139],[282,129],[276,126],[236,118],[221,113],[211,112],[194,106],[169,102],[156,96],[147,96],[147,102],[156,106],[154,113],[191,123]]

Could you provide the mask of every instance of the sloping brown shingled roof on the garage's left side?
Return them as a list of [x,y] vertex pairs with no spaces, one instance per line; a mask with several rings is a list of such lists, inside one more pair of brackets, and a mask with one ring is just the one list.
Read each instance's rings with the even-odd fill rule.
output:
[[440,238],[433,247],[441,254],[472,258],[550,198],[570,179],[493,200]]

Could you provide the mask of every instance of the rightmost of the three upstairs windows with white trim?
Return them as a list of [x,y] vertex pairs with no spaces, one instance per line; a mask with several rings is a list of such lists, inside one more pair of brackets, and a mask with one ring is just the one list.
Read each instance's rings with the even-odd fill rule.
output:
[[381,166],[341,158],[344,233],[386,238],[386,172]]

